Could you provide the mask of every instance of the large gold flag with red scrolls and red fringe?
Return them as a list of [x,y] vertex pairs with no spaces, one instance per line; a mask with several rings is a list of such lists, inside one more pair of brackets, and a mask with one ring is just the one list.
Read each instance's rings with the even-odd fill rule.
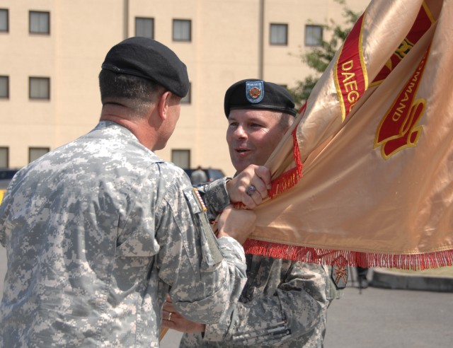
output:
[[452,265],[452,37],[453,1],[371,1],[266,163],[247,253]]

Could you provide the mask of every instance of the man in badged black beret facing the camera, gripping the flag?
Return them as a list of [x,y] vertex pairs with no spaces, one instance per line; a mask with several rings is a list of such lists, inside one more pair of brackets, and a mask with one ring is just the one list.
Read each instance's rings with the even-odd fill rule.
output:
[[[232,202],[231,187],[238,187],[260,204],[266,187],[252,174],[265,178],[263,165],[294,122],[294,101],[282,86],[246,79],[228,88],[224,110],[236,169],[226,190]],[[246,262],[246,287],[231,314],[212,324],[175,316],[168,327],[188,332],[179,347],[322,347],[333,289],[328,267],[261,255],[246,255]]]

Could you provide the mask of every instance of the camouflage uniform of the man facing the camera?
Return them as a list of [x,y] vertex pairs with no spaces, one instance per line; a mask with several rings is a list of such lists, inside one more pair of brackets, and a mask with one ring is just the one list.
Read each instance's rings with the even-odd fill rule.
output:
[[[217,185],[217,186],[216,186]],[[222,182],[200,187],[205,202],[226,196]],[[204,334],[184,334],[180,347],[322,347],[326,312],[340,295],[330,267],[246,255],[247,284],[231,315],[207,324]]]

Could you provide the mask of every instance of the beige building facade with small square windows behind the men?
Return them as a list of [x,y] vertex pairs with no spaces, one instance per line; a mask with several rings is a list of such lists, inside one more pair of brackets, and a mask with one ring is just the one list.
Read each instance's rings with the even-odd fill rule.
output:
[[[353,11],[368,3],[346,1]],[[226,88],[248,78],[293,87],[311,73],[299,53],[342,13],[334,0],[0,0],[0,167],[25,166],[91,130],[106,52],[141,35],[175,51],[190,79],[176,131],[157,154],[232,175]]]

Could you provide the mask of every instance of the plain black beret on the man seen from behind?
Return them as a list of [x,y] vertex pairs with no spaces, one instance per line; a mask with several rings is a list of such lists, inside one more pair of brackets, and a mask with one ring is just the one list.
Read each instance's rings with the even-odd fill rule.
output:
[[102,69],[149,79],[181,98],[189,91],[185,64],[168,47],[147,37],[130,37],[113,46]]

